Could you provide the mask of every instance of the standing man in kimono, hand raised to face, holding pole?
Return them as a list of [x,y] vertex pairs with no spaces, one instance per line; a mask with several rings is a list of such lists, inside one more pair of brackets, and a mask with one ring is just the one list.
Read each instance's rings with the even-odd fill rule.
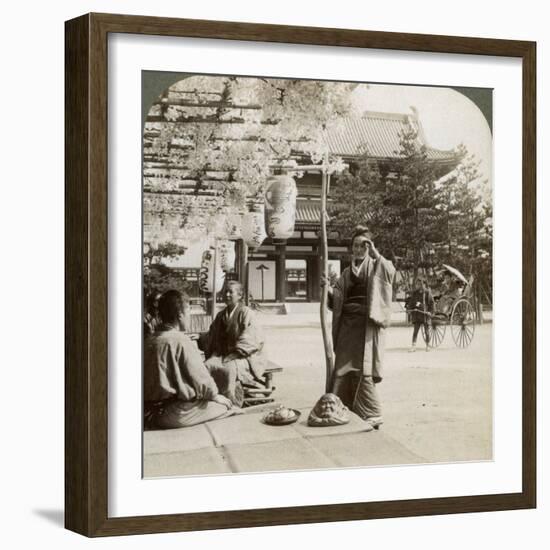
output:
[[376,384],[382,381],[395,268],[378,252],[364,226],[355,228],[350,250],[351,266],[328,293],[335,350],[332,393],[365,420],[370,431],[382,424]]

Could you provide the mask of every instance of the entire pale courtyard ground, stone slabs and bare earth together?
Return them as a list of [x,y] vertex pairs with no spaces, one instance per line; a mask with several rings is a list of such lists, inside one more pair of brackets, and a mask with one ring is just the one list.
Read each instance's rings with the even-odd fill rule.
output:
[[305,426],[324,393],[318,314],[258,320],[268,357],[284,368],[274,396],[302,412],[298,422],[267,426],[265,410],[255,408],[192,428],[146,432],[145,477],[492,459],[491,323],[476,327],[467,349],[456,348],[447,334],[430,353],[408,353],[411,327],[391,327],[379,385],[384,425],[365,433],[357,418],[338,428]]

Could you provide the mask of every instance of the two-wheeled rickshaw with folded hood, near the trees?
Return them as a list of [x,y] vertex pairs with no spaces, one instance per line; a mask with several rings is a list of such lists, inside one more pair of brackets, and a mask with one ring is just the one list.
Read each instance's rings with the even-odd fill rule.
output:
[[467,348],[474,338],[476,323],[473,276],[468,280],[458,269],[446,264],[442,264],[439,273],[446,276],[447,282],[438,289],[432,289],[438,292],[434,293],[434,312],[416,310],[430,318],[430,322],[422,327],[424,341],[430,347],[437,348],[445,338],[448,325],[455,345]]

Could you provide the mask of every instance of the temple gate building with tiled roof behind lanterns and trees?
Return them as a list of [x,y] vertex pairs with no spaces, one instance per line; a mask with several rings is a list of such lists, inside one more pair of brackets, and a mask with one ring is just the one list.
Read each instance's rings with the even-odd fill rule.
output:
[[[367,112],[363,118],[345,119],[338,133],[328,135],[330,152],[352,167],[368,151],[369,159],[376,161],[382,177],[391,176],[399,158],[400,134],[411,124],[418,131],[420,144],[427,146],[416,111],[411,114]],[[428,147],[427,154],[437,166],[439,177],[453,170],[459,161],[454,151]],[[321,175],[306,173],[296,183],[294,235],[284,245],[266,239],[257,251],[249,254],[249,292],[257,301],[317,302],[320,299]],[[330,201],[329,194],[329,209]],[[349,264],[349,235],[342,234],[329,222],[328,238],[329,272],[339,275]],[[260,266],[264,266],[263,269]]]

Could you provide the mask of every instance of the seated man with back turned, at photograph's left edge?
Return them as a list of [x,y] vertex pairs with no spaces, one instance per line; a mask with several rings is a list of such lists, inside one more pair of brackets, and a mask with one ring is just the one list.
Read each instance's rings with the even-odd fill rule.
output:
[[189,303],[177,290],[158,301],[161,324],[145,340],[143,397],[146,428],[182,428],[234,414],[218,393],[195,344],[183,333]]

